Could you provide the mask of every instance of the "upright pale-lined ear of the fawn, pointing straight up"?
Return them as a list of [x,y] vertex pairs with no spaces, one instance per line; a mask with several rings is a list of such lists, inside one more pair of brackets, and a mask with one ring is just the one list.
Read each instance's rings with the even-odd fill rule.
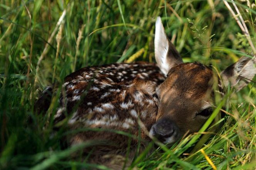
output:
[[176,64],[183,63],[181,55],[166,36],[164,26],[160,17],[156,19],[155,32],[155,58],[162,73],[167,75],[168,71]]

